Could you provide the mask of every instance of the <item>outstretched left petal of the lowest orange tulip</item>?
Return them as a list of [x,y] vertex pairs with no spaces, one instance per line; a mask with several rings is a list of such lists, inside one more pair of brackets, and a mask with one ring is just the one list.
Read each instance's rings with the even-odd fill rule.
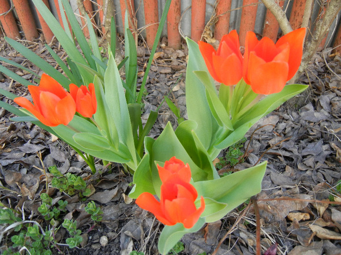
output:
[[155,215],[156,219],[164,223],[165,225],[174,225],[176,222],[171,222],[165,218],[165,215],[161,209],[161,204],[155,199],[155,197],[148,192],[143,192],[138,196],[135,203],[142,209],[150,211]]

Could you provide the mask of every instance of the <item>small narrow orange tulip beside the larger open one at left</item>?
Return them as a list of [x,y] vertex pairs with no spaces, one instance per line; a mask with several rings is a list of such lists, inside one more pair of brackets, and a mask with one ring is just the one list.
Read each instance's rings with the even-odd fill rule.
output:
[[89,84],[89,88],[84,85],[77,87],[70,84],[70,94],[76,102],[76,111],[86,118],[91,118],[97,110],[95,86]]

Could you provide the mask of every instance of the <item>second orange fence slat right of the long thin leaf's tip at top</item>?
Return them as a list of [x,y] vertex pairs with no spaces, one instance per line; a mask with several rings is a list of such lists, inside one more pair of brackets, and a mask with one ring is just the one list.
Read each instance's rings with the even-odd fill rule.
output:
[[200,41],[205,29],[206,0],[192,0],[190,37]]

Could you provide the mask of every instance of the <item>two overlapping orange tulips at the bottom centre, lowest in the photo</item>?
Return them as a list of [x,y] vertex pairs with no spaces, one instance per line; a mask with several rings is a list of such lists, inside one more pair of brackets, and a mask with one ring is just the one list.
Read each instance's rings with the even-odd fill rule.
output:
[[160,201],[151,193],[144,192],[136,199],[136,204],[153,213],[165,225],[181,222],[185,228],[193,227],[205,210],[205,201],[201,196],[201,206],[196,208],[194,201],[198,193],[189,183],[189,165],[172,157],[164,167],[158,165],[157,169],[162,182]]

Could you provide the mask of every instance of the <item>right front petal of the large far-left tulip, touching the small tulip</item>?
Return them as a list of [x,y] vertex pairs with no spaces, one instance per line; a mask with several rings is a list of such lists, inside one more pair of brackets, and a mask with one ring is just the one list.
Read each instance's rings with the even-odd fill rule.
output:
[[74,118],[75,113],[76,103],[70,94],[57,102],[56,114],[61,124],[69,124],[69,122]]

